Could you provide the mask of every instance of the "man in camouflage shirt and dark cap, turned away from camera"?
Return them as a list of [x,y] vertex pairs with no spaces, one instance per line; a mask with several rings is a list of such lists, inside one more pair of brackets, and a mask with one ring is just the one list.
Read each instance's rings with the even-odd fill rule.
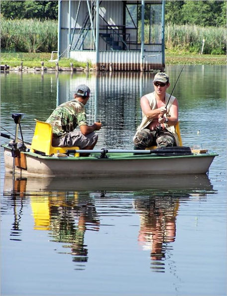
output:
[[[53,128],[52,145],[56,147],[79,146],[80,149],[91,150],[95,147],[102,124],[95,122],[88,125],[85,105],[90,98],[90,89],[86,85],[76,88],[74,99],[59,105],[46,122]],[[79,126],[80,130],[75,131]],[[84,154],[83,156],[88,156]]]

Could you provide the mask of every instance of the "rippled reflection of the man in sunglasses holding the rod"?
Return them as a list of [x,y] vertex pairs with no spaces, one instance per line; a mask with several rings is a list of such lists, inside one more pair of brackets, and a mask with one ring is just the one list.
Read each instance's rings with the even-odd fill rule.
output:
[[174,197],[137,198],[134,202],[140,216],[138,242],[150,250],[151,260],[165,258],[164,243],[175,241],[179,199]]

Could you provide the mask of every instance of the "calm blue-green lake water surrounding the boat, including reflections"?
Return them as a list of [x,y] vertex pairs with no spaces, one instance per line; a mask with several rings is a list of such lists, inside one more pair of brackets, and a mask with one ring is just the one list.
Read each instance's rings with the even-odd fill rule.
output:
[[[166,68],[169,93],[181,69]],[[22,112],[30,142],[34,118],[83,83],[97,148],[131,149],[153,76],[1,73],[1,132]],[[208,176],[12,182],[1,153],[1,295],[226,295],[226,79],[224,66],[185,66],[174,90],[183,144],[219,154]]]

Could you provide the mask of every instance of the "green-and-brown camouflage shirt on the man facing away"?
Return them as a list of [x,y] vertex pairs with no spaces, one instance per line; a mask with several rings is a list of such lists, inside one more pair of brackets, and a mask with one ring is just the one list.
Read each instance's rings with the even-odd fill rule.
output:
[[52,125],[53,134],[65,136],[78,125],[88,125],[85,106],[77,99],[64,102],[52,112],[46,122]]

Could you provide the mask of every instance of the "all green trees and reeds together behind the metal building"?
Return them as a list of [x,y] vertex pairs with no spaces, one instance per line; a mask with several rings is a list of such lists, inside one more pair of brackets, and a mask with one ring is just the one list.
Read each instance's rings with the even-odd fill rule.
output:
[[[204,54],[226,54],[226,0],[166,0],[165,7],[168,51],[199,53],[205,39]],[[0,9],[1,52],[57,50],[58,1],[1,0]],[[147,42],[146,26],[144,33]]]

